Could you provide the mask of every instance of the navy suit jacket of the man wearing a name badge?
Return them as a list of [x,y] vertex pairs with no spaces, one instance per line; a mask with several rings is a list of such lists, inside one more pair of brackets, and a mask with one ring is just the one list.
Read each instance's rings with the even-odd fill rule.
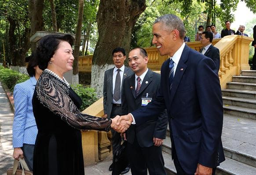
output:
[[[135,94],[135,74],[127,77],[124,80],[123,86],[123,106],[122,112],[128,114],[129,112],[135,111],[141,106],[142,98],[148,94],[149,98],[155,98],[157,91],[160,86],[161,76],[158,73],[152,72],[150,69],[146,73],[141,88],[139,89],[138,95]],[[153,137],[158,139],[165,139],[166,129],[168,124],[168,116],[166,110],[158,115],[158,118],[148,120],[145,123],[137,126],[132,125],[126,131],[127,141],[133,144],[135,135],[138,140],[140,147],[151,147],[154,145]]]

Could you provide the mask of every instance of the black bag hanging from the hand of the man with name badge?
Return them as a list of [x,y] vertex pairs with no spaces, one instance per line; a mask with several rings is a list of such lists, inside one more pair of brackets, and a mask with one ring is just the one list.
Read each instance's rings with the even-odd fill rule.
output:
[[120,149],[114,154],[113,157],[113,171],[112,175],[120,175],[124,168],[129,164],[126,151],[127,141],[122,138]]

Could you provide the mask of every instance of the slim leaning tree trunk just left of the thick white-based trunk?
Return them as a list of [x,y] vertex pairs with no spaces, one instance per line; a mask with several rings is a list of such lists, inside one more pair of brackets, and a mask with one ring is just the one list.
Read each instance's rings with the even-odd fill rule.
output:
[[[78,76],[78,59],[79,59],[79,51],[80,51],[80,43],[81,43],[81,28],[83,22],[83,14],[84,14],[84,0],[79,0],[78,7],[78,19],[77,19],[77,30],[76,30],[76,40],[74,45],[74,64],[73,64],[73,75]],[[73,82],[78,84],[78,82]]]

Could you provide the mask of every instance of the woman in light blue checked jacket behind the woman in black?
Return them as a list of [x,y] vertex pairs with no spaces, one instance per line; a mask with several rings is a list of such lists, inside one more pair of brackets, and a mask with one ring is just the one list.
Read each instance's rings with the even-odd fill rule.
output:
[[12,157],[19,160],[25,157],[30,171],[33,171],[33,152],[37,137],[37,124],[33,115],[32,97],[37,80],[42,70],[37,65],[37,59],[32,55],[27,72],[29,80],[16,84],[13,91],[14,119],[12,126],[12,145],[14,147]]

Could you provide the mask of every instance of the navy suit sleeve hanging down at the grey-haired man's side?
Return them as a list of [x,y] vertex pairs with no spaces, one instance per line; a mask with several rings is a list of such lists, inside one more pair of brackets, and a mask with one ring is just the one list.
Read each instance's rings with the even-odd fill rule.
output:
[[196,70],[196,88],[202,116],[202,138],[198,163],[214,168],[223,126],[223,103],[219,78],[211,59],[202,59]]

